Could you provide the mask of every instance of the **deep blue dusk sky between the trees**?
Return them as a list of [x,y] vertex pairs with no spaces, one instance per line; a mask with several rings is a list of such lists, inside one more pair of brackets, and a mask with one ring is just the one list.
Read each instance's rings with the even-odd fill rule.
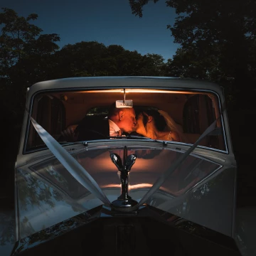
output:
[[178,48],[171,31],[175,10],[165,1],[144,6],[143,17],[134,16],[128,0],[1,0],[1,7],[14,9],[18,16],[38,14],[32,21],[43,33],[57,33],[60,48],[68,43],[97,41],[105,46],[123,46],[142,55],[156,53],[172,58]]

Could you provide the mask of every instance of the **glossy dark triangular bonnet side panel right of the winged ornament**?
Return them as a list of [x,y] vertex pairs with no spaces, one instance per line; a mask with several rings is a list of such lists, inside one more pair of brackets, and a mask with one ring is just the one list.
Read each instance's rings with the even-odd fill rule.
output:
[[225,169],[178,198],[155,207],[232,236],[235,169]]

